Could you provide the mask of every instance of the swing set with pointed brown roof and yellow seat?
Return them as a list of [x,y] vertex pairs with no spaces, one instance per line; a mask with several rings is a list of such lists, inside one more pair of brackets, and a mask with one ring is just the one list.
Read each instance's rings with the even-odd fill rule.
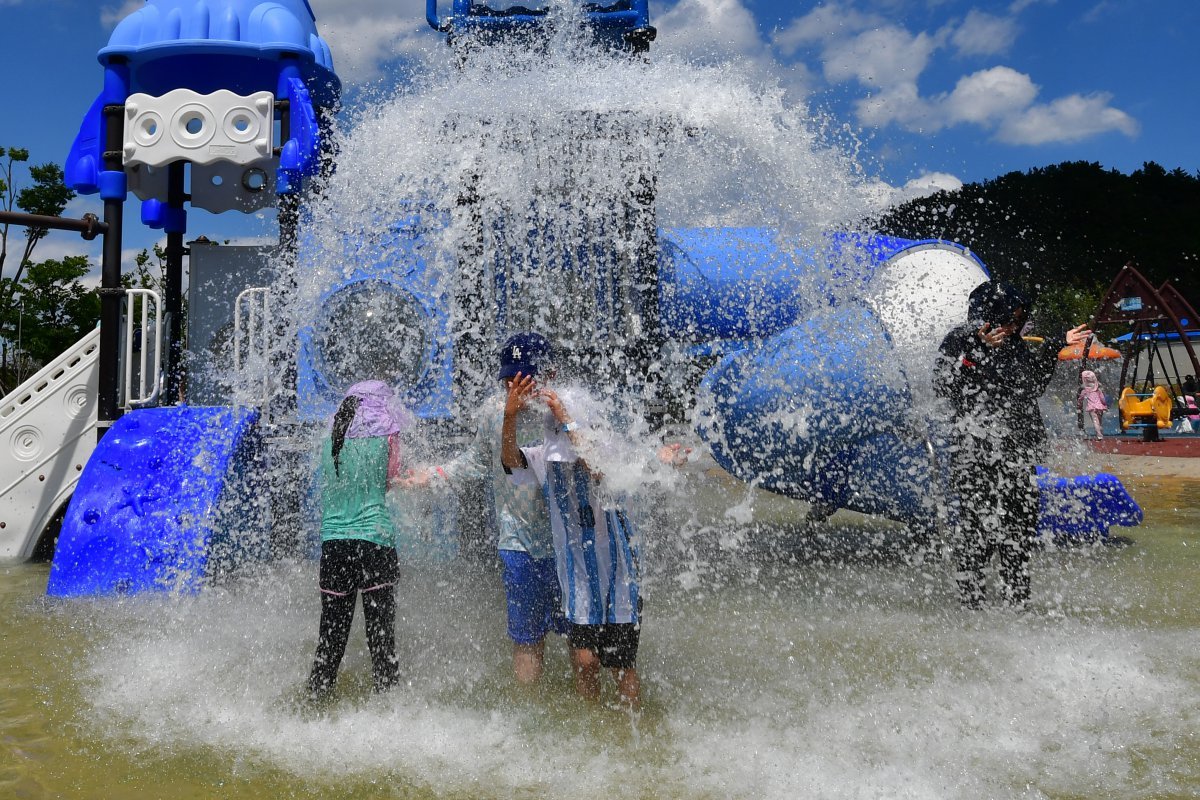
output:
[[[1159,429],[1170,428],[1175,420],[1196,414],[1183,391],[1183,372],[1176,360],[1176,344],[1183,347],[1192,365],[1192,375],[1200,374],[1190,337],[1200,337],[1200,317],[1170,284],[1154,287],[1133,264],[1117,273],[1096,314],[1091,327],[1128,324],[1129,333],[1116,337],[1127,342],[1121,362],[1120,401],[1122,433],[1140,431],[1144,441],[1158,441]],[[1086,349],[1080,371],[1086,368]],[[1168,366],[1170,365],[1170,366]]]

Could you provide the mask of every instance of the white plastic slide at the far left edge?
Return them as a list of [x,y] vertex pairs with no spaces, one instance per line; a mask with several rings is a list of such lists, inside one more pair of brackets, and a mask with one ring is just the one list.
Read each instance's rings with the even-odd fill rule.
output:
[[100,329],[0,399],[0,559],[26,560],[96,449]]

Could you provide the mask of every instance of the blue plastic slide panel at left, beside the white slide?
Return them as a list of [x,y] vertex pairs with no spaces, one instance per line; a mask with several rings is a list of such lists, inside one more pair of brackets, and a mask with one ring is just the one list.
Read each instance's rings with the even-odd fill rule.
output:
[[88,461],[47,594],[190,593],[270,554],[258,411],[151,408],[118,420]]

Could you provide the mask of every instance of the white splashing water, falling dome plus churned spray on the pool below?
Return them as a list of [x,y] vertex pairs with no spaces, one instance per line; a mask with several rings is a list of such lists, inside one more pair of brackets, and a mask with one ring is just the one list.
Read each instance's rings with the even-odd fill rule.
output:
[[[428,291],[455,299],[460,421],[494,384],[497,342],[527,327],[572,354],[569,378],[624,390],[602,402],[644,405],[631,363],[682,380],[631,347],[638,253],[655,227],[766,225],[799,251],[876,210],[852,154],[776,88],[731,65],[581,54],[564,30],[545,52],[476,52],[352,115],[337,172],[306,210],[292,333],[320,335],[329,293],[364,267],[385,265],[385,281],[419,257]],[[653,215],[636,201],[647,191]],[[622,282],[598,293],[601,275]],[[798,275],[799,294],[836,290],[829,275]],[[479,302],[497,276],[499,320]],[[371,315],[391,321],[370,327]],[[415,327],[397,317],[365,302],[347,317],[364,327],[341,332],[371,348]],[[389,377],[419,380],[404,368],[437,342],[401,344]],[[358,356],[364,368],[397,357]],[[806,425],[786,422],[797,435]],[[1073,606],[1116,594],[1109,554],[1039,566],[1050,614],[960,615],[942,571],[880,555],[887,523],[822,551],[788,503],[703,463],[646,467],[648,439],[614,427],[596,456],[634,494],[647,539],[640,720],[578,703],[557,639],[542,686],[516,688],[499,579],[466,560],[406,570],[400,690],[370,694],[356,628],[337,703],[306,711],[319,601],[314,565],[300,561],[198,597],[61,609],[94,639],[80,657],[88,724],[136,752],[232,753],[236,771],[281,770],[293,792],[293,777],[384,796],[1152,796],[1200,784],[1183,748],[1200,715],[1200,640],[1132,620],[1145,589],[1102,610]]]

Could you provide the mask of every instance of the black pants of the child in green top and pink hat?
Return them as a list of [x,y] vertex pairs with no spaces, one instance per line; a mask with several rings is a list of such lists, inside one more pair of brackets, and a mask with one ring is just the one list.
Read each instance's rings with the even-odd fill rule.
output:
[[313,658],[308,691],[326,694],[337,682],[337,670],[350,638],[356,596],[362,595],[367,649],[374,688],[382,692],[400,680],[396,660],[396,578],[400,561],[394,547],[358,539],[320,545],[320,640]]

